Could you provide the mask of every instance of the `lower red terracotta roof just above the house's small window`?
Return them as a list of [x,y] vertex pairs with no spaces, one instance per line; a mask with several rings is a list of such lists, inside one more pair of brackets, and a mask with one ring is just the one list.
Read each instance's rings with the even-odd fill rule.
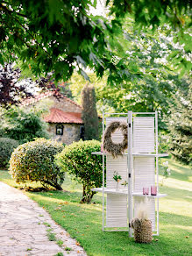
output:
[[46,123],[83,124],[81,113],[64,112],[56,108],[52,108],[44,120]]

